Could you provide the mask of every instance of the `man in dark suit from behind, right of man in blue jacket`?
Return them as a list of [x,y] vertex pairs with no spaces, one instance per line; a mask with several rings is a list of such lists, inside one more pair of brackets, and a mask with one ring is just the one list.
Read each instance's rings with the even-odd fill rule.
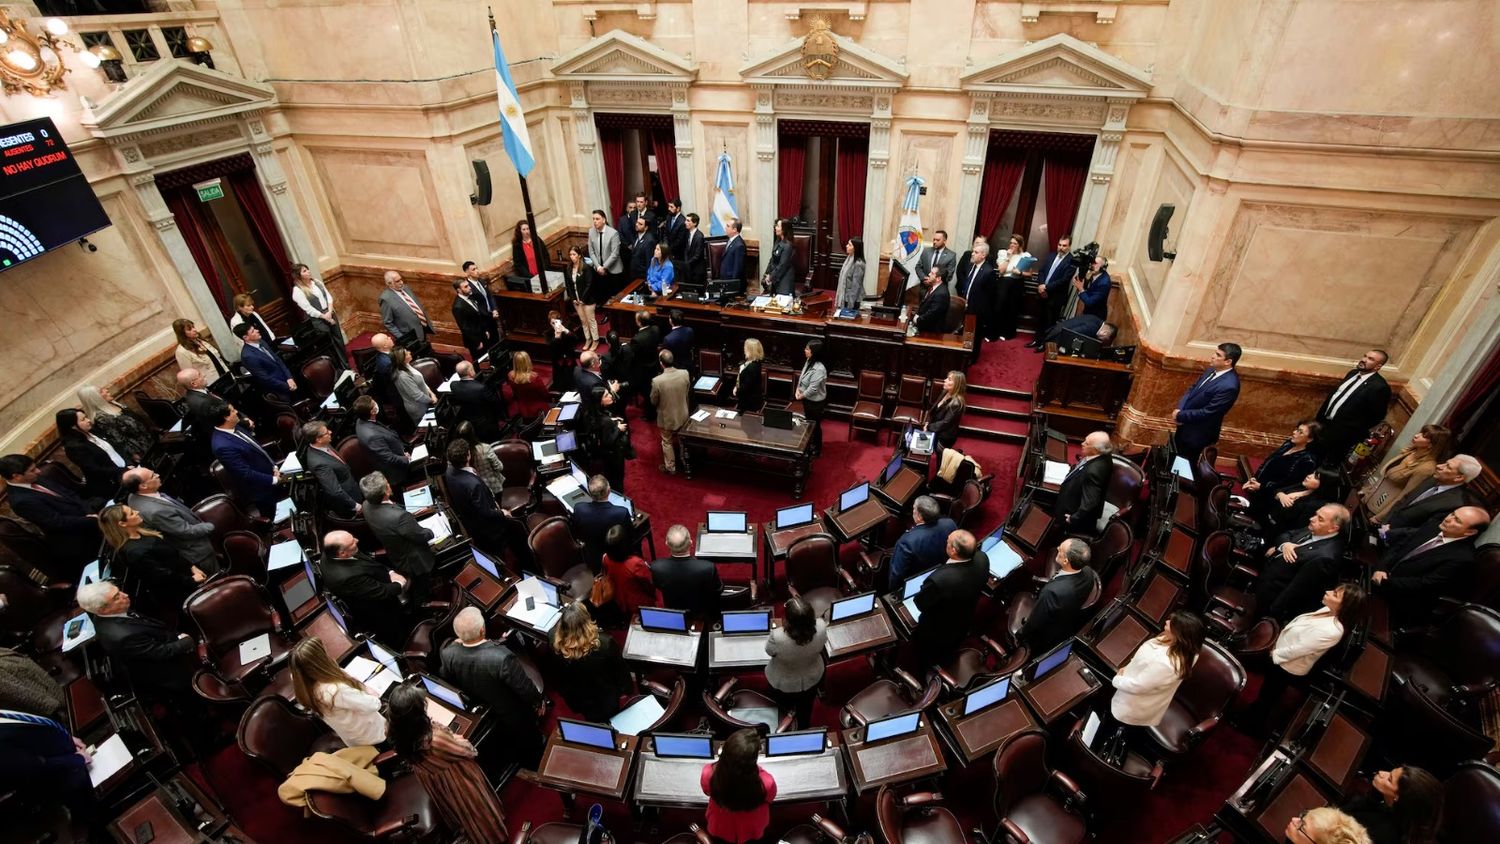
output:
[[921,615],[912,630],[912,645],[922,673],[952,657],[969,634],[974,609],[990,576],[990,558],[969,531],[948,534],[945,550],[948,561],[922,582],[914,598]]

